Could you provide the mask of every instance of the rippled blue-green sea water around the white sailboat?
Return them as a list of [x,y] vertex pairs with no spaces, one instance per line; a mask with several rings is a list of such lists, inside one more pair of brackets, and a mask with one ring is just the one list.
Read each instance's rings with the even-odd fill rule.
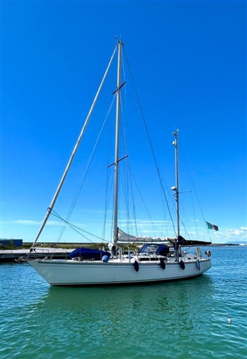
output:
[[50,287],[1,264],[0,358],[247,358],[247,247],[211,253],[198,278],[116,287]]

